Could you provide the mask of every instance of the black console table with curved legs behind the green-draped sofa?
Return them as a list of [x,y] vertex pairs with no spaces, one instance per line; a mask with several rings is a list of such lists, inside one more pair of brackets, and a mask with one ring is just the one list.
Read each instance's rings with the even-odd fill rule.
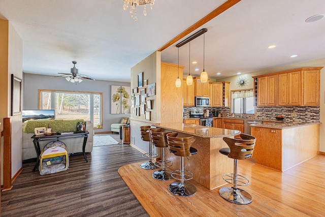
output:
[[83,145],[82,145],[82,153],[83,157],[86,162],[88,162],[88,159],[86,157],[85,153],[85,147],[87,143],[87,138],[88,138],[88,131],[84,132],[73,132],[71,134],[59,134],[59,133],[52,133],[51,135],[34,135],[31,138],[34,139],[32,142],[34,143],[34,147],[37,153],[37,160],[34,169],[32,171],[34,172],[39,164],[40,164],[40,155],[41,155],[41,148],[40,148],[40,141],[53,141],[53,140],[59,140],[59,139],[70,139],[72,137],[83,137]]

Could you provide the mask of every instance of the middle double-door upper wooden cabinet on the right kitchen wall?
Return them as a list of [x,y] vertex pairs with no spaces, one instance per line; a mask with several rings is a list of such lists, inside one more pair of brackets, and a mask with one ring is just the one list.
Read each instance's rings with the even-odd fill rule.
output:
[[301,105],[301,71],[278,75],[278,105]]

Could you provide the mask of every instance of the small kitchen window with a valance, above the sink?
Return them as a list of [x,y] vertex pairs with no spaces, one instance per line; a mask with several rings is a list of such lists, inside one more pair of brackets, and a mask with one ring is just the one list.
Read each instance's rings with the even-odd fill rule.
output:
[[232,91],[232,113],[254,114],[253,89]]

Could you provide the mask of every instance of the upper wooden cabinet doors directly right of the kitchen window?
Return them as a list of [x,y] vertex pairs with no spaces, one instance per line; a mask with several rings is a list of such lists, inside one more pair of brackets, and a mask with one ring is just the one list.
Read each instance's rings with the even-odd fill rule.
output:
[[257,105],[277,105],[278,75],[263,76],[257,78]]

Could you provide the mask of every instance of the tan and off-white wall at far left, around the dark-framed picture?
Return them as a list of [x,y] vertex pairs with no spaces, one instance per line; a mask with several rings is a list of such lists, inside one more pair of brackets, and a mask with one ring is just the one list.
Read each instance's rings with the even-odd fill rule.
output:
[[[12,118],[11,131],[12,135],[15,135],[11,137],[11,176],[13,177],[22,167],[22,117],[11,116],[11,74],[22,79],[22,40],[8,20],[0,19],[0,29],[0,122],[3,122],[5,117]],[[2,166],[3,145],[2,141]],[[3,183],[3,176],[1,176],[1,183]]]

